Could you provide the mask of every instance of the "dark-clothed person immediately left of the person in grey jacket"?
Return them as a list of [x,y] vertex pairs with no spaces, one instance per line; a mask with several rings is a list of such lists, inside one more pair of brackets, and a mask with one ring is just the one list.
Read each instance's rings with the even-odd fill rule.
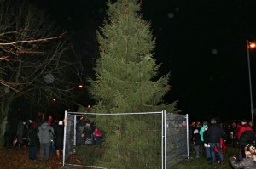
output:
[[32,123],[29,125],[28,128],[28,158],[29,160],[36,160],[37,152],[38,152],[38,145],[39,145],[39,139],[38,139],[38,123],[32,121]]

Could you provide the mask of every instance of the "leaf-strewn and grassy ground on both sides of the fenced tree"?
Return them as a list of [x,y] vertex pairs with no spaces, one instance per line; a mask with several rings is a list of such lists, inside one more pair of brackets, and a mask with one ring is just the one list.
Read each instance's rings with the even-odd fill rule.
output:
[[[177,166],[173,167],[173,169],[199,169],[199,168],[221,168],[221,169],[230,169],[232,168],[229,164],[229,158],[233,155],[238,155],[238,147],[233,147],[232,145],[228,145],[226,149],[226,155],[224,158],[224,165],[209,165],[206,158],[200,157],[198,159],[195,158],[195,151],[192,146],[191,157],[189,160],[185,160]],[[39,157],[39,150],[38,150]],[[72,155],[73,162],[79,163],[79,159]],[[57,159],[55,155],[52,155],[49,161],[40,161],[35,160],[31,161],[28,159],[28,149],[4,149],[0,148],[0,169],[80,169],[82,167],[75,166],[61,166],[62,158]]]

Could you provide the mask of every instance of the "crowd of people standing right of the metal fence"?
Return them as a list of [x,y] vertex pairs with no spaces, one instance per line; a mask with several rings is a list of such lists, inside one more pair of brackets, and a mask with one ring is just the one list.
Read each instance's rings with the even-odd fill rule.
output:
[[256,132],[251,121],[243,119],[224,124],[212,118],[210,123],[192,122],[190,133],[195,158],[201,156],[199,149],[202,147],[202,156],[206,157],[209,164],[224,164],[226,144],[229,143],[239,147],[237,155],[229,160],[233,168],[256,168]]

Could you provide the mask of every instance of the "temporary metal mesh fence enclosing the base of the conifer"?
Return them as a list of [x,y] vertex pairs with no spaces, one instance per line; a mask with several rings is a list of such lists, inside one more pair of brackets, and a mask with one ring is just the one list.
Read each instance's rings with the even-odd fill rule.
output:
[[[80,126],[76,127],[79,123],[77,116],[100,118],[106,121],[108,128],[113,125],[113,134],[107,136],[104,128],[99,127],[101,145],[78,144],[76,138]],[[165,111],[126,114],[66,112],[63,166],[172,168],[186,158],[186,126],[184,115]]]

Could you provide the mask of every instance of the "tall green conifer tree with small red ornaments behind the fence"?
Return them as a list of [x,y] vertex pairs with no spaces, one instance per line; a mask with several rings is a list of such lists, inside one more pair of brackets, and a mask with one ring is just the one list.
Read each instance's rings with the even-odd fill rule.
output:
[[[96,79],[89,80],[90,94],[96,100],[96,105],[91,107],[93,112],[175,110],[176,103],[165,104],[162,100],[171,89],[169,74],[158,77],[160,64],[156,64],[153,57],[155,39],[140,9],[141,3],[137,0],[108,2],[108,20],[104,20],[97,32],[100,57],[96,59]],[[124,168],[131,161],[144,164],[153,161],[157,156],[151,147],[155,133],[148,131],[154,126],[160,127],[160,121],[148,124],[148,119],[136,115],[109,116],[95,119],[106,137],[104,159],[108,160],[108,166]],[[145,153],[147,159],[142,155]]]

